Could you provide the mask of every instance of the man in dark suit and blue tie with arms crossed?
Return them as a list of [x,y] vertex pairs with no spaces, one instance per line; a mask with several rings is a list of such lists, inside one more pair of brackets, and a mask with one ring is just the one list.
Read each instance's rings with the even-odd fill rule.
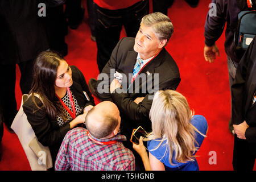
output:
[[[126,138],[130,139],[138,126],[151,131],[148,115],[154,93],[163,89],[176,90],[179,85],[179,69],[164,48],[172,32],[168,16],[162,13],[144,16],[136,38],[119,40],[98,81],[94,78],[89,81],[94,96],[118,106],[121,133]],[[121,83],[114,78],[115,71],[122,74]],[[124,144],[133,150],[130,142]]]

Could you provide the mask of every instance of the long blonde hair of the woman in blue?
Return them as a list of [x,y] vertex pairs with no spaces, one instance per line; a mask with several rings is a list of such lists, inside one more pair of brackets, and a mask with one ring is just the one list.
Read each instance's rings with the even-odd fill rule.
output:
[[[193,112],[190,110],[186,98],[174,90],[159,90],[154,96],[150,110],[152,132],[147,140],[160,138],[160,144],[166,140],[166,151],[170,148],[170,164],[175,152],[176,162],[193,161],[195,147],[195,131],[200,133],[191,124]],[[201,133],[200,133],[201,134]],[[201,134],[205,137],[204,134]]]

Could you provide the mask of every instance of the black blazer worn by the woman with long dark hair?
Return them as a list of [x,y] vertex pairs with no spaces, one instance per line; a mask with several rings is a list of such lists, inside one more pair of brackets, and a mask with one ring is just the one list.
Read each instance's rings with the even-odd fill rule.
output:
[[[76,97],[79,106],[94,106],[95,104],[92,94],[89,91],[88,85],[86,84],[82,72],[75,66],[71,66],[71,70],[73,79],[71,90]],[[82,91],[85,91],[88,94],[90,101],[86,100]],[[35,97],[35,100],[39,106],[43,105],[39,98]],[[28,122],[32,126],[32,129],[34,130],[39,142],[41,142],[43,146],[49,146],[54,162],[65,134],[71,130],[69,123],[66,123],[63,126],[59,126],[55,119],[50,119],[48,117],[45,109],[37,109],[31,97],[29,97],[28,100],[24,102],[23,110],[24,113],[26,113]]]

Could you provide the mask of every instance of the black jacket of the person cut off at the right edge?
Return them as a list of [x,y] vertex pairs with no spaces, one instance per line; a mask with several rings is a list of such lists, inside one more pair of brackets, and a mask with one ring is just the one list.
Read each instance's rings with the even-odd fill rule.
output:
[[236,125],[246,121],[249,125],[245,137],[251,152],[256,155],[256,102],[253,104],[255,90],[256,42],[254,37],[237,67],[232,84],[232,121]]

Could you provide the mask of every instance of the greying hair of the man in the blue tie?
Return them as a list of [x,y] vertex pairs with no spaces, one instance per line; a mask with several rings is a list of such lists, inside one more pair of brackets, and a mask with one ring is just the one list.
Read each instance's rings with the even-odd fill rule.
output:
[[170,18],[159,12],[145,15],[142,18],[141,23],[147,27],[152,27],[155,35],[160,41],[167,39],[168,42],[174,32],[174,26],[172,25]]

